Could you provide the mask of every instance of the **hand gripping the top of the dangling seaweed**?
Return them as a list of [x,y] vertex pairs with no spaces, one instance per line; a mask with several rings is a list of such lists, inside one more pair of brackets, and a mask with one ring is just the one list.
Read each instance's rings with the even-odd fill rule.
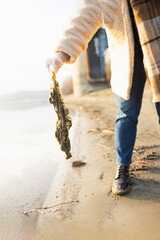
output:
[[69,56],[66,53],[55,53],[52,58],[47,59],[46,67],[49,72],[57,73],[62,65],[68,60]]

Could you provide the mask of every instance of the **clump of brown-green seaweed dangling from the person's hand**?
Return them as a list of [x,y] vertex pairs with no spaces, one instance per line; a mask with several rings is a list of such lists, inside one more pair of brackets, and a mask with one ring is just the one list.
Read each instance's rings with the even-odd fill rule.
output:
[[52,73],[52,81],[53,85],[51,86],[49,101],[53,104],[58,116],[55,136],[61,146],[61,150],[66,154],[66,159],[69,159],[72,157],[70,153],[71,144],[69,140],[69,129],[72,126],[72,121],[69,116],[69,111],[64,104],[55,73]]

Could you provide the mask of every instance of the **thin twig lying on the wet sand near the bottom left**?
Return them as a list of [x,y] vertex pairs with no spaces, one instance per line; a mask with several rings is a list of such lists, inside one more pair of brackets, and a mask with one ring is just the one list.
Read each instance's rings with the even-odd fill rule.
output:
[[38,212],[38,213],[43,214],[45,210],[48,210],[48,209],[51,209],[51,208],[55,208],[55,207],[59,207],[59,206],[61,206],[61,205],[72,204],[72,203],[79,203],[79,201],[76,200],[76,201],[58,203],[58,204],[55,204],[55,205],[52,205],[52,206],[49,206],[49,207],[35,208],[35,209],[29,210],[29,211],[25,211],[25,212],[22,212],[22,213],[23,213],[25,216],[30,217],[30,215],[29,215],[30,213]]

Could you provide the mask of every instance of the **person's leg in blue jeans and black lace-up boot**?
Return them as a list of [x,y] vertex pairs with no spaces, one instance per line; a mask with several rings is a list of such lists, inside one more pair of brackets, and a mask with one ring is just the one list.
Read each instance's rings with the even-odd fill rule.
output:
[[146,73],[143,54],[139,45],[135,46],[133,83],[129,100],[116,96],[118,114],[115,122],[115,145],[117,173],[112,185],[114,194],[126,194],[129,191],[129,165],[136,139],[138,116],[142,104]]

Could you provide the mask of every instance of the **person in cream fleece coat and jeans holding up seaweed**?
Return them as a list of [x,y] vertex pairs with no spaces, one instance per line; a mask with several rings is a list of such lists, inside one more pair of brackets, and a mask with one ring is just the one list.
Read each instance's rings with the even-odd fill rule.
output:
[[[160,123],[160,64],[155,64],[156,61],[160,63],[160,4],[157,2],[156,0],[148,0],[147,3],[141,0],[84,0],[77,16],[64,31],[55,49],[54,57],[47,61],[48,70],[54,72],[57,72],[63,63],[74,63],[82,51],[86,50],[88,42],[104,21],[111,54],[111,88],[116,94],[118,108],[115,121],[118,166],[112,185],[114,194],[126,194],[130,189],[129,166],[146,82],[146,68]],[[145,4],[148,4],[147,7]],[[149,12],[150,8],[153,8],[153,11]],[[144,15],[143,11],[144,24],[143,19],[140,18],[140,14]],[[150,30],[147,30],[146,26],[150,26],[150,19],[147,19],[148,12],[145,11],[149,12],[151,19],[156,18],[152,16],[154,12],[158,14],[156,20],[151,21],[151,31],[154,30],[155,37],[154,34],[150,34]],[[145,31],[144,27],[146,27]],[[152,35],[151,39],[148,40],[147,37],[150,35]],[[151,45],[154,40],[156,47]],[[155,49],[152,52],[152,46],[155,47],[156,54]],[[151,51],[152,54],[148,54],[147,51]]]

